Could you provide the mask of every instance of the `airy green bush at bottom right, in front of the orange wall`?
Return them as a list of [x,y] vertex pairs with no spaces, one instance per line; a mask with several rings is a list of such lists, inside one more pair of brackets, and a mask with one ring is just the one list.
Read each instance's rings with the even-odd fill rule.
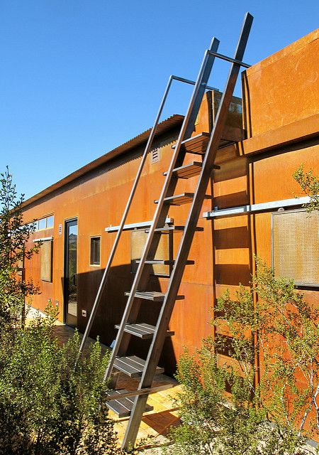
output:
[[218,299],[213,336],[179,361],[182,425],[168,454],[306,454],[318,435],[318,310],[257,266],[251,289]]

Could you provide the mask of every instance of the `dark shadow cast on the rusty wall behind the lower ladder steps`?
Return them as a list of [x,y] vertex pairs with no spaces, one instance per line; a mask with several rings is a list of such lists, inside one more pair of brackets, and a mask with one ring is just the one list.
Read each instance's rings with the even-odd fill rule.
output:
[[[77,327],[80,332],[84,332],[86,323],[89,319],[91,308],[99,289],[104,269],[92,270],[82,274],[77,274]],[[128,297],[125,291],[130,291],[133,283],[134,274],[131,273],[131,265],[124,264],[118,267],[111,267],[108,276],[108,285],[103,292],[101,303],[97,311],[90,336],[96,338],[107,346],[111,346],[116,338],[117,330],[115,325],[121,322],[123,312]],[[162,291],[159,279],[156,276],[150,277],[148,289],[152,291]],[[140,311],[138,322],[152,324],[157,323],[161,304],[150,300],[140,300]],[[86,310],[86,317],[82,316],[82,309]],[[128,346],[128,355],[138,355],[146,358],[150,347],[150,340],[141,340],[132,336]],[[176,370],[176,357],[171,337],[167,337],[162,350],[159,365],[165,368],[167,374],[174,374]]]

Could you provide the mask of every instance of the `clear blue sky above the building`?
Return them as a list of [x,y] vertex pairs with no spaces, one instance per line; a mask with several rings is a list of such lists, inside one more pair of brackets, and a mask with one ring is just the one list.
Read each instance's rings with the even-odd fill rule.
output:
[[[29,197],[140,134],[167,77],[195,78],[212,36],[233,54],[246,11],[247,63],[319,26],[318,0],[1,0],[0,171]],[[189,93],[174,85],[164,117]]]

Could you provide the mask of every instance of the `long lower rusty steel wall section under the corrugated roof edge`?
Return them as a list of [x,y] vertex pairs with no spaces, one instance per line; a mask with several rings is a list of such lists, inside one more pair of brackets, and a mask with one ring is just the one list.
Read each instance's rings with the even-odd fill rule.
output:
[[[213,117],[211,109],[211,96],[208,95],[198,114],[194,134],[208,131],[208,122]],[[179,121],[179,123],[181,122]],[[156,208],[154,200],[159,197],[164,182],[163,172],[167,171],[169,166],[172,145],[177,139],[177,134],[177,129],[172,129],[157,137],[154,146],[159,147],[161,159],[155,164],[151,164],[150,157],[147,159],[127,223],[139,223],[152,219]],[[68,219],[77,218],[78,220],[77,287],[80,331],[84,331],[87,321],[87,318],[82,317],[82,309],[86,309],[87,316],[89,316],[101,280],[102,269],[105,267],[116,235],[104,232],[104,229],[109,225],[118,225],[121,221],[141,154],[142,146],[131,149],[62,188],[52,191],[40,200],[33,200],[30,205],[28,205],[28,201],[26,203],[24,219],[27,223],[33,218],[42,218],[50,214],[55,216],[52,230],[35,232],[30,239],[32,241],[36,238],[53,236],[52,283],[40,280],[39,256],[33,257],[26,263],[26,275],[27,277],[32,276],[35,282],[40,284],[42,291],[42,294],[33,297],[33,306],[43,310],[48,299],[52,299],[53,303],[58,302],[60,320],[62,320],[63,311],[64,230],[60,234],[59,225],[64,226],[65,220]],[[194,188],[193,185],[194,181],[180,181],[177,192],[191,191]],[[182,225],[186,220],[187,209],[185,206],[172,207],[169,216],[174,218],[175,223]],[[203,210],[211,210],[211,201],[208,200],[204,203]],[[167,371],[171,373],[174,371],[176,358],[180,355],[183,346],[187,345],[191,348],[198,346],[201,338],[208,335],[210,331],[207,321],[213,294],[211,228],[203,219],[198,224],[205,229],[203,232],[196,233],[196,241],[190,253],[190,257],[195,259],[196,264],[187,267],[184,274],[180,292],[186,296],[186,299],[177,302],[170,324],[176,335],[173,337],[172,343],[167,341],[167,346],[164,348],[164,364]],[[101,267],[89,264],[91,236],[101,236]],[[177,250],[180,236],[180,232],[174,233],[174,252]],[[103,296],[103,304],[101,304],[92,330],[92,335],[99,335],[101,341],[108,345],[116,335],[114,325],[121,321],[127,299],[124,291],[130,289],[133,279],[130,263],[130,237],[130,232],[123,232],[111,269],[110,286]],[[166,289],[167,277],[152,277],[152,280],[155,282],[152,289]],[[155,322],[154,306],[156,305],[145,301],[142,306],[142,321]],[[142,342],[138,346],[141,355],[146,344],[147,342]]]

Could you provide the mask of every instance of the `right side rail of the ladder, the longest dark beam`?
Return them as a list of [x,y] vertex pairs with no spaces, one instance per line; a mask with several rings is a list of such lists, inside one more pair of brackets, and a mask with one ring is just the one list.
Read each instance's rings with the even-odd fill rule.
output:
[[[235,51],[234,60],[242,60],[242,56],[244,55],[245,48],[247,45],[248,36],[250,34],[250,28],[252,26],[252,19],[253,18],[249,13],[245,15],[244,23],[242,25],[242,30],[240,33],[240,38]],[[189,210],[189,216],[186,220],[184,235],[179,245],[179,251],[177,252],[175,267],[173,269],[171,279],[169,280],[169,287],[167,289],[167,294],[165,296],[164,302],[162,304],[162,309],[159,314],[159,319],[157,321],[157,326],[155,328],[155,334],[152,338],[152,343],[150,346],[149,353],[147,355],[145,369],[144,372],[142,373],[142,378],[140,380],[138,390],[150,387],[150,385],[152,385],[152,380],[155,375],[155,368],[159,361],[159,356],[162,353],[162,346],[164,344],[165,339],[164,333],[166,333],[167,331],[169,319],[172,315],[174,302],[181,283],[181,278],[184,274],[186,260],[189,255],[189,250],[191,248],[191,242],[194,237],[195,227],[201,213],[201,205],[203,203],[203,198],[206,193],[206,188],[208,186],[209,179],[211,178],[211,171],[213,170],[216,152],[218,150],[221,135],[223,134],[223,127],[227,119],[228,108],[230,105],[231,98],[233,96],[233,90],[235,88],[235,83],[239,71],[240,64],[233,62],[230,67],[230,73],[228,75],[228,80],[226,83],[225,90],[223,92],[223,96],[220,100],[220,106],[218,108],[218,113],[216,115],[216,122],[213,127],[213,132],[211,134],[210,141],[208,142],[206,155],[203,161],[203,168],[201,171],[201,175],[198,178],[198,184],[196,187],[196,192],[194,194],[194,200],[191,205],[191,209]],[[130,414],[130,420],[128,422],[128,427],[126,429],[125,437],[123,439],[123,448],[127,447],[128,444],[130,443],[134,444],[135,442],[135,439],[138,434],[140,420],[142,418],[142,413],[145,410],[147,397],[148,395],[140,395],[135,398],[133,410]]]

